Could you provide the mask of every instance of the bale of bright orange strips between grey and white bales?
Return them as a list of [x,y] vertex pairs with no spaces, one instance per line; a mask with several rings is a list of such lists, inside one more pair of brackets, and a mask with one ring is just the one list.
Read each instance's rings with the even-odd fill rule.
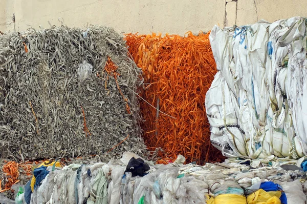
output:
[[216,73],[208,36],[191,32],[186,37],[125,36],[146,85],[141,94],[144,101],[140,101],[144,140],[148,148],[165,151],[166,157],[159,155],[163,158],[160,163],[174,160],[178,154],[197,164],[225,158],[211,145],[205,111],[206,92]]

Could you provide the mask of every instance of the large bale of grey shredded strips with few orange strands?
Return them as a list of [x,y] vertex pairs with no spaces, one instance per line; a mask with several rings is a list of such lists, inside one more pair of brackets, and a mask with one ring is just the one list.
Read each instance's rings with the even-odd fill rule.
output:
[[112,28],[0,35],[0,157],[144,156],[140,72]]

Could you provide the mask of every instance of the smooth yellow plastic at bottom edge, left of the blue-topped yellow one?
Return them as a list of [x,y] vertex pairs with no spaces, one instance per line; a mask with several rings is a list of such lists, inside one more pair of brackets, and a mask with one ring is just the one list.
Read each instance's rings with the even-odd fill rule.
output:
[[207,200],[207,204],[247,204],[246,197],[236,194],[223,194],[218,195],[215,198],[210,197]]

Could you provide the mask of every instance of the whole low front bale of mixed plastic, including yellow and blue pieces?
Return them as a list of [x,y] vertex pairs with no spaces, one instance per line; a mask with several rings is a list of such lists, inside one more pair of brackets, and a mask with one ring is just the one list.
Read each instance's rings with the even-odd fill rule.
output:
[[15,200],[1,203],[307,203],[301,161],[227,159],[223,164],[153,165],[125,152],[107,164],[45,162],[28,183],[14,185]]

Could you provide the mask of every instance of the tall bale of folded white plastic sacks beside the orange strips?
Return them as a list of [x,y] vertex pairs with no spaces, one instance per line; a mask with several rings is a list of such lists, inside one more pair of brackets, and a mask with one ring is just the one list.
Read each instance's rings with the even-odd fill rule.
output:
[[225,156],[307,155],[306,24],[293,17],[212,29],[218,72],[206,112],[211,142]]

